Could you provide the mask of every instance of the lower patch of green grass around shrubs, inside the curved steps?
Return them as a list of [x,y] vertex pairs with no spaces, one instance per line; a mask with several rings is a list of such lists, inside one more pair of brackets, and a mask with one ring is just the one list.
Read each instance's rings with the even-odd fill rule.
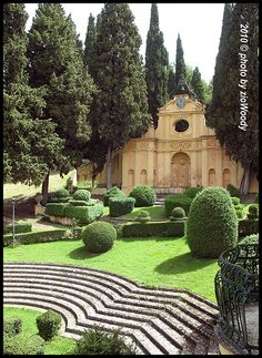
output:
[[[38,335],[36,319],[42,313],[34,309],[3,307],[3,318],[19,317],[22,320],[22,333]],[[70,355],[75,346],[75,340],[66,337],[54,337],[44,344],[46,355]]]

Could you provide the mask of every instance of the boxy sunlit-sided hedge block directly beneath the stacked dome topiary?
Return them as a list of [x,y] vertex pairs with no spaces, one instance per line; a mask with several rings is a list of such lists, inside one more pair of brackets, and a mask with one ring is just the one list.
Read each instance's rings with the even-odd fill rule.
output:
[[90,224],[95,218],[103,214],[103,204],[95,204],[93,206],[73,206],[68,205],[64,208],[64,215],[70,218],[75,218],[79,224]]

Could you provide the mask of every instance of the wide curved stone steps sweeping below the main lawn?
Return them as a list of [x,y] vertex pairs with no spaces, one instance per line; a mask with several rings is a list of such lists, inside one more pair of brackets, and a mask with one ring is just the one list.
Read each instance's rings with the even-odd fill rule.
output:
[[7,263],[3,304],[53,309],[63,336],[89,328],[120,328],[140,355],[219,355],[216,306],[188,290],[148,288],[123,276],[88,267]]

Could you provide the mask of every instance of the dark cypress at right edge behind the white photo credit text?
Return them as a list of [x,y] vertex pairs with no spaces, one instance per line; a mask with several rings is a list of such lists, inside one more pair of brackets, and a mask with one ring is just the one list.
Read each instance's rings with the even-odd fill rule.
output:
[[[248,45],[243,51],[242,43]],[[235,3],[232,11],[225,4],[206,123],[230,157],[240,161],[244,168],[242,195],[248,193],[251,171],[259,170],[258,49],[258,3]],[[246,71],[241,74],[241,69]]]

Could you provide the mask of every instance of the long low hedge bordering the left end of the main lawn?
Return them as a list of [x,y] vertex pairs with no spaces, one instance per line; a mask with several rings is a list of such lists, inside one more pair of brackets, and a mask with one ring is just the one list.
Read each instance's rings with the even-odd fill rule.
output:
[[[31,232],[31,233],[22,233],[14,235],[16,245],[27,245],[27,244],[37,244],[37,243],[48,243],[48,242],[57,242],[60,239],[67,239],[64,237],[67,229],[66,228],[57,228],[44,232]],[[12,246],[12,234],[3,235],[3,246]]]

